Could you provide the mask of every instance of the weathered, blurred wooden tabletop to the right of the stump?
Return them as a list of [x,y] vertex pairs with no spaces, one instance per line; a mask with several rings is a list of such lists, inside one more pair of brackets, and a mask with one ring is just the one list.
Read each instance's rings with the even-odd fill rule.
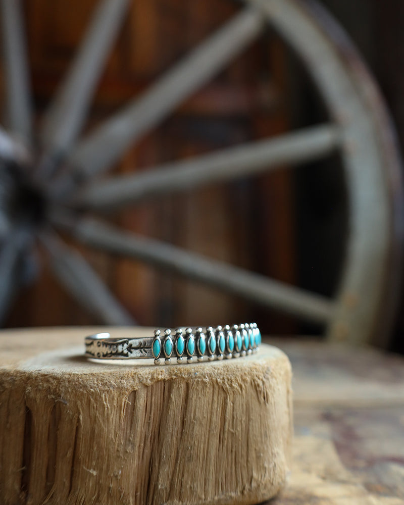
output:
[[288,485],[271,505],[403,504],[404,359],[313,341],[275,345],[292,363],[295,437]]

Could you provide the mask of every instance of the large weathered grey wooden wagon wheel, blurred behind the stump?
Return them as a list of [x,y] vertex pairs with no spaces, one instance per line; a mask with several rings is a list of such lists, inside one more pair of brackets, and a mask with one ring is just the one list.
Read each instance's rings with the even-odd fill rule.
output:
[[[19,5],[1,0],[10,125],[8,133],[0,132],[7,193],[0,220],[4,237],[0,257],[2,316],[19,283],[18,267],[33,247],[34,236],[51,258],[55,275],[88,311],[103,323],[132,322],[90,265],[62,241],[58,233],[63,231],[94,248],[140,259],[324,323],[331,339],[368,340],[384,310],[386,334],[399,279],[399,161],[378,92],[335,22],[312,2],[248,0],[233,19],[150,89],[88,136],[78,138],[128,4],[128,0],[100,2],[82,47],[34,135]],[[97,179],[256,39],[268,23],[308,68],[326,104],[329,123],[142,173]],[[116,210],[162,193],[299,165],[334,151],[340,151],[343,161],[349,232],[333,299],[88,217],[89,213]]]

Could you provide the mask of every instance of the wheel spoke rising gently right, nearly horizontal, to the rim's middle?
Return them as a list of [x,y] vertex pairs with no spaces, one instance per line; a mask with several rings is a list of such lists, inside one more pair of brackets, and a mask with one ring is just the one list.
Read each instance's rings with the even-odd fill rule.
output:
[[148,196],[253,175],[282,164],[301,164],[330,153],[338,146],[339,138],[339,129],[335,126],[308,128],[145,172],[109,178],[84,188],[75,203],[105,211]]

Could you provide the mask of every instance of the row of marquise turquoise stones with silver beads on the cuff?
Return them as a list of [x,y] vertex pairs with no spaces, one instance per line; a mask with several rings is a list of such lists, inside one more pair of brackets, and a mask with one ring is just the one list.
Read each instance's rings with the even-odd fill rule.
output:
[[185,359],[192,363],[194,359],[204,361],[205,357],[210,361],[238,358],[256,351],[260,344],[261,332],[257,324],[247,323],[231,327],[209,326],[205,331],[197,328],[195,333],[192,328],[186,328],[185,335],[182,328],[177,328],[174,336],[171,329],[163,334],[156,330],[151,351],[157,365],[162,359],[168,364],[171,358],[177,358],[178,363]]

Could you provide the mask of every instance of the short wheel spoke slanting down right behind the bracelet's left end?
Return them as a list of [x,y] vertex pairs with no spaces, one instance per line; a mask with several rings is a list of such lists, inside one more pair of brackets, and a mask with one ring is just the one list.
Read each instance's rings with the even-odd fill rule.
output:
[[133,318],[88,265],[82,256],[65,245],[57,235],[40,236],[55,276],[66,290],[105,324],[133,325]]

